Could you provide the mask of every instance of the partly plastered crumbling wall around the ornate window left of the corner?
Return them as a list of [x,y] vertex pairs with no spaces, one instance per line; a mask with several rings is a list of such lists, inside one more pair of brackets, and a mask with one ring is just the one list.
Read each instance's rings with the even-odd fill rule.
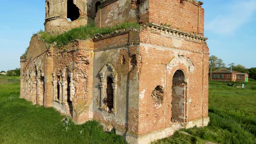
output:
[[[125,131],[138,132],[138,31],[127,30],[111,36],[94,39],[94,116],[97,121],[110,125],[119,134]],[[99,72],[104,65],[112,65],[117,76],[116,113],[99,109],[102,83]],[[107,70],[105,73],[112,72]],[[105,75],[108,76],[108,75]],[[105,93],[104,93],[105,94]]]

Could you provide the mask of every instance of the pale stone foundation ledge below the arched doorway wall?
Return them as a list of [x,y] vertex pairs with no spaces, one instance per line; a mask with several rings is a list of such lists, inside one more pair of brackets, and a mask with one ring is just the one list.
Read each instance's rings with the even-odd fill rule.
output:
[[204,127],[207,126],[210,122],[209,117],[199,118],[193,121],[187,122],[184,126],[181,124],[174,124],[169,128],[165,128],[159,131],[154,131],[149,134],[141,135],[141,136],[135,136],[133,134],[126,133],[125,139],[130,144],[149,144],[152,141],[156,141],[158,139],[170,137],[174,134],[175,131],[178,131],[181,128],[192,128],[194,126],[197,127]]

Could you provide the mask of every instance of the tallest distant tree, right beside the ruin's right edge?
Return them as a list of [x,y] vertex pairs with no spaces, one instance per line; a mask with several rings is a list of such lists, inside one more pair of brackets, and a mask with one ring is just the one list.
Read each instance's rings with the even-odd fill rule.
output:
[[222,59],[218,58],[217,56],[210,56],[209,57],[209,71],[215,71],[220,68],[226,68],[226,64],[223,62]]

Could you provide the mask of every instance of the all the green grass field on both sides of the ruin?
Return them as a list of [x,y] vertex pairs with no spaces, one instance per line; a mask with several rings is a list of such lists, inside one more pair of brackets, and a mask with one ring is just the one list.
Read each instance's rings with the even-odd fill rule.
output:
[[[31,105],[20,99],[19,79],[0,77],[0,143],[125,143],[114,131],[103,132],[96,121],[82,125],[66,121],[65,124],[65,117],[53,108]],[[245,89],[227,87],[226,82],[210,82],[209,116],[207,127],[183,129],[153,143],[256,144],[256,81],[251,80]]]

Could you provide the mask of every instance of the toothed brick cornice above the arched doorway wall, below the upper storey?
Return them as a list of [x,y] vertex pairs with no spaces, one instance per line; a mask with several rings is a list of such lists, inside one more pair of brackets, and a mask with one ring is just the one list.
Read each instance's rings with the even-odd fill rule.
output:
[[148,24],[145,24],[144,27],[150,31],[155,32],[155,33],[160,33],[160,34],[163,33],[163,34],[167,34],[170,36],[175,36],[175,37],[179,37],[182,39],[187,39],[187,40],[195,41],[195,42],[205,42],[208,39],[207,37],[199,36],[194,33],[187,33],[187,32],[181,31],[179,29],[174,29],[174,28],[170,28],[167,26],[158,25],[156,23],[148,23]]

